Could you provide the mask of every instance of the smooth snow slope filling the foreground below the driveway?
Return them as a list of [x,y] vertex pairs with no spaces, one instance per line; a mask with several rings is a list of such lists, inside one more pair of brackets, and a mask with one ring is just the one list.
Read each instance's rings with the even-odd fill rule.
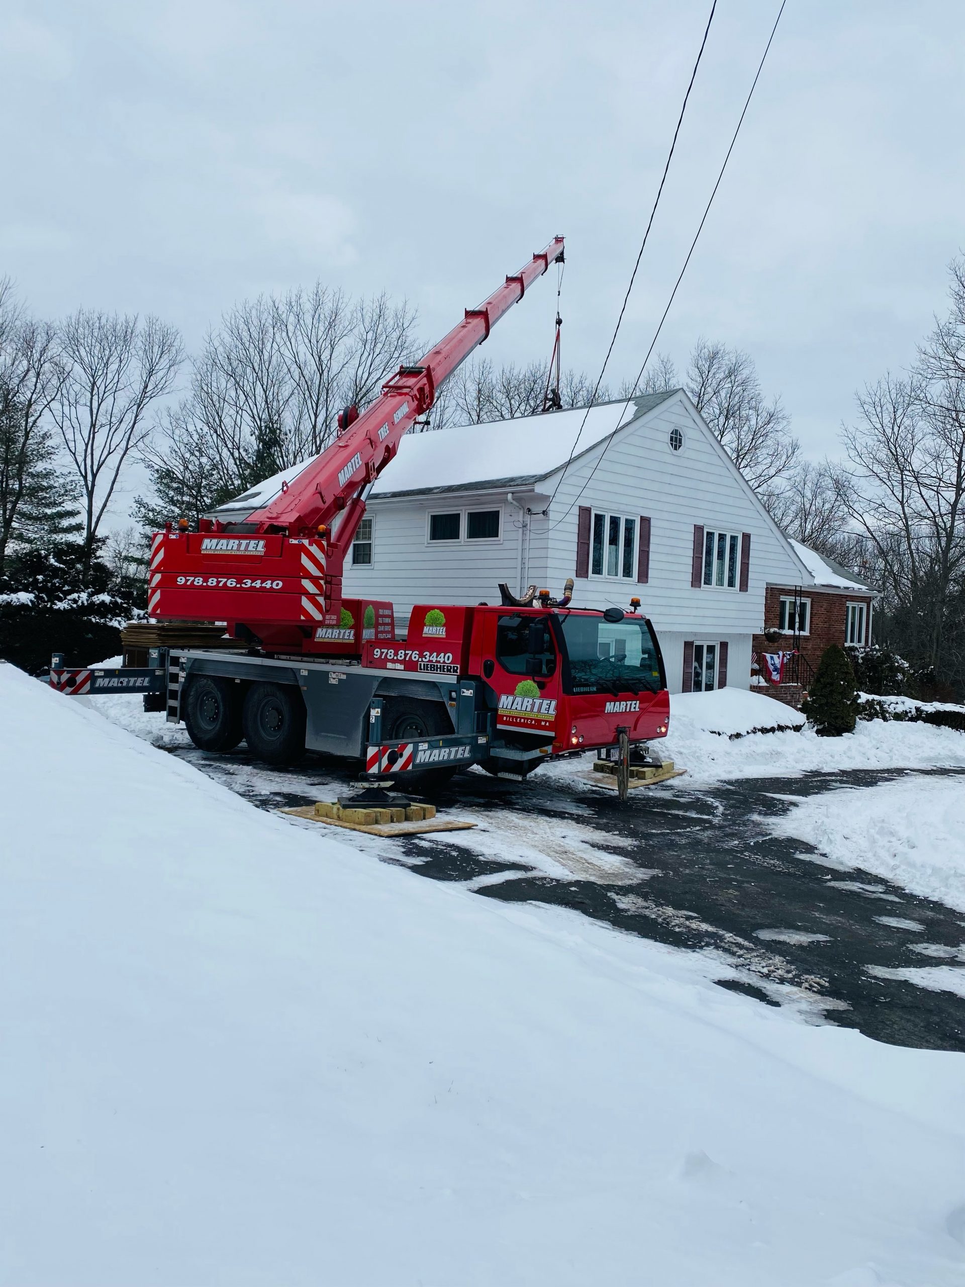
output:
[[0,1282],[961,1282],[961,1055],[0,710]]

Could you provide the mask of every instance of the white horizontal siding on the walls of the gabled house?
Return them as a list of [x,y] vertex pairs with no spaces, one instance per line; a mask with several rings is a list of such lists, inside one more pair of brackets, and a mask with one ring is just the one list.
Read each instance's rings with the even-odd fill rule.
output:
[[[673,427],[685,435],[681,452],[669,447]],[[498,474],[498,462],[494,472]],[[748,686],[750,641],[763,625],[766,584],[807,584],[809,577],[686,395],[661,403],[618,434],[605,450],[596,447],[576,459],[566,471],[549,514],[542,516],[539,511],[549,502],[558,476],[557,472],[538,484],[538,493],[533,488],[513,492],[517,501],[534,510],[525,520],[529,526],[522,568],[524,520],[504,490],[373,498],[369,503],[374,517],[373,565],[346,568],[346,596],[391,598],[401,627],[416,602],[497,602],[501,580],[512,589],[535,583],[560,595],[566,578],[576,571],[579,506],[636,519],[646,516],[651,521],[648,583],[639,586],[636,579],[621,577],[580,579],[574,602],[587,607],[611,604],[625,607],[630,596],[638,596],[660,636],[672,692],[681,689],[685,640],[727,640],[728,683]],[[579,494],[584,483],[587,486]],[[499,544],[427,543],[430,510],[495,503],[503,510]],[[695,524],[750,533],[748,592],[691,587]]]

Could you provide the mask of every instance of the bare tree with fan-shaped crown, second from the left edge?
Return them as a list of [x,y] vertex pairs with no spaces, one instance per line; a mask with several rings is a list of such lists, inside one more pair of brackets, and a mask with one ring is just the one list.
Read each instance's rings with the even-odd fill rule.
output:
[[156,317],[80,309],[59,329],[63,378],[51,414],[80,480],[85,584],[117,480],[148,436],[148,413],[171,390],[181,358],[178,331]]

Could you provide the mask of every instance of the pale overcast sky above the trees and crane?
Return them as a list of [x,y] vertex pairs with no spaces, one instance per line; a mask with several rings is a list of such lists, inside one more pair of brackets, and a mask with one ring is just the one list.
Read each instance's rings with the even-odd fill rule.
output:
[[[612,360],[636,373],[778,0],[719,0]],[[0,13],[0,274],[158,313],[387,290],[437,338],[561,232],[564,360],[596,373],[710,0],[17,3]],[[789,0],[660,347],[745,347],[805,452],[906,366],[965,247],[961,0]],[[555,286],[555,283],[553,283]],[[548,358],[544,281],[493,332]]]

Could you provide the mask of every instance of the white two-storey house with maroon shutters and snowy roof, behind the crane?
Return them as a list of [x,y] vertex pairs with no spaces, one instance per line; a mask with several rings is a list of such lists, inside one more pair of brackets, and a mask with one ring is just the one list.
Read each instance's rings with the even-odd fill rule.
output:
[[344,591],[391,598],[404,625],[416,602],[498,602],[499,582],[560,595],[567,577],[576,605],[641,598],[672,691],[685,655],[688,687],[694,674],[749,685],[766,587],[814,579],[674,390],[407,435],[368,498]]

